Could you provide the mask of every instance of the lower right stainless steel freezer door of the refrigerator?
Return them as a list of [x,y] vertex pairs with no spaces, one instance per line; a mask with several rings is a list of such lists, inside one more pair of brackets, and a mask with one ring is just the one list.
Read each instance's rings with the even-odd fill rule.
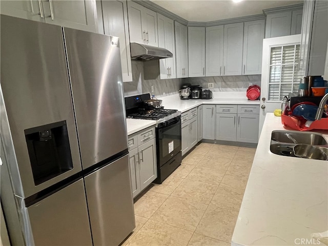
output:
[[94,245],[118,245],[135,228],[128,155],[85,177]]

